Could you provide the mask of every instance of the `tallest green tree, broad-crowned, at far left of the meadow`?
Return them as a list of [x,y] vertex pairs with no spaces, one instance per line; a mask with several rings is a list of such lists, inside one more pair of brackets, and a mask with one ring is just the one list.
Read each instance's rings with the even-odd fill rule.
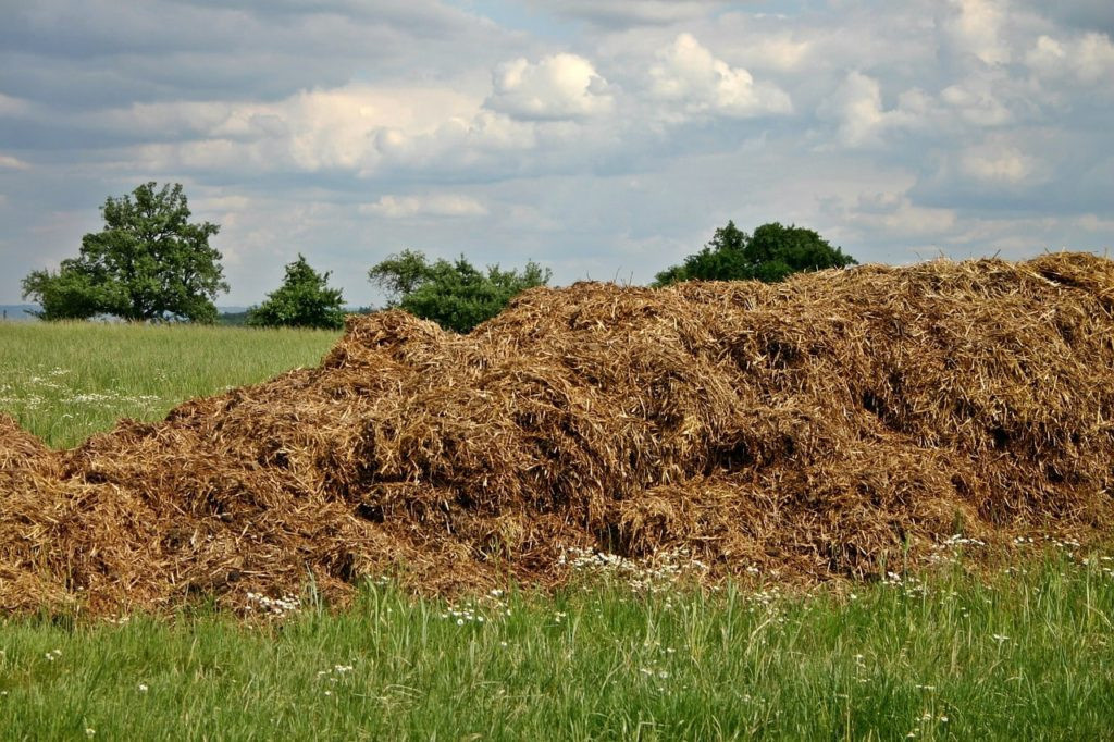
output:
[[104,228],[81,237],[77,257],[62,261],[57,273],[33,271],[23,279],[23,299],[39,303],[41,319],[216,321],[213,300],[228,284],[208,240],[221,227],[188,221],[180,184],[155,186],[109,196],[100,208]]

